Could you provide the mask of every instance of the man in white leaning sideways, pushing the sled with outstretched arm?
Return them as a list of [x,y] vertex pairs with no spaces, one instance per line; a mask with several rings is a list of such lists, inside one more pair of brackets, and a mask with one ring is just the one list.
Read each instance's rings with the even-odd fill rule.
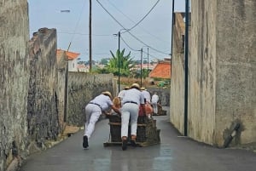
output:
[[93,133],[95,124],[102,112],[107,111],[112,108],[113,111],[121,114],[119,109],[113,105],[112,95],[110,92],[105,91],[102,94],[96,96],[95,99],[90,100],[90,102],[85,106],[85,118],[86,122],[84,124],[84,137],[83,137],[83,147],[87,148],[89,146],[88,141],[90,135]]

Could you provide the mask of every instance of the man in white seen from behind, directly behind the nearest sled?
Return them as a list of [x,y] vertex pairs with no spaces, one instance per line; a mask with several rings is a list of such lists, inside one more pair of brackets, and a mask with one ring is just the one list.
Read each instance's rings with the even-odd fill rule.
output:
[[121,125],[121,138],[122,138],[122,150],[127,149],[127,137],[129,120],[131,120],[131,145],[136,145],[137,137],[137,117],[139,106],[143,106],[143,113],[145,114],[145,105],[143,94],[140,90],[140,86],[137,83],[133,83],[131,88],[125,91],[124,99],[122,100],[122,125]]

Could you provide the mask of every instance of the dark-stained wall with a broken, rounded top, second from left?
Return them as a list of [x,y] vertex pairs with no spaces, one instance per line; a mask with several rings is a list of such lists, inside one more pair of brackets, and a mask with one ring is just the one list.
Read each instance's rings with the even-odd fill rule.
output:
[[27,98],[29,139],[44,147],[60,134],[58,116],[56,30],[42,28],[29,42],[30,79]]

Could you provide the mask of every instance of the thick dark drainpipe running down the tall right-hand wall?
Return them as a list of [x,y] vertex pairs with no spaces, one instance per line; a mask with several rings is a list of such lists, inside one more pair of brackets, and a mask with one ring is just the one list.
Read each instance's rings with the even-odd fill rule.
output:
[[185,22],[184,136],[188,136],[189,0],[186,0]]

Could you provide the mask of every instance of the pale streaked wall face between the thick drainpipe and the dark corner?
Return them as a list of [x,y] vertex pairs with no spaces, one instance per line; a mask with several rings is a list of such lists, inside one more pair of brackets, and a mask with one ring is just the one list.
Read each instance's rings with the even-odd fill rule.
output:
[[192,5],[188,134],[195,140],[215,144],[214,129],[218,127],[215,119],[215,82],[216,68],[218,68],[216,66],[217,2],[194,1]]

